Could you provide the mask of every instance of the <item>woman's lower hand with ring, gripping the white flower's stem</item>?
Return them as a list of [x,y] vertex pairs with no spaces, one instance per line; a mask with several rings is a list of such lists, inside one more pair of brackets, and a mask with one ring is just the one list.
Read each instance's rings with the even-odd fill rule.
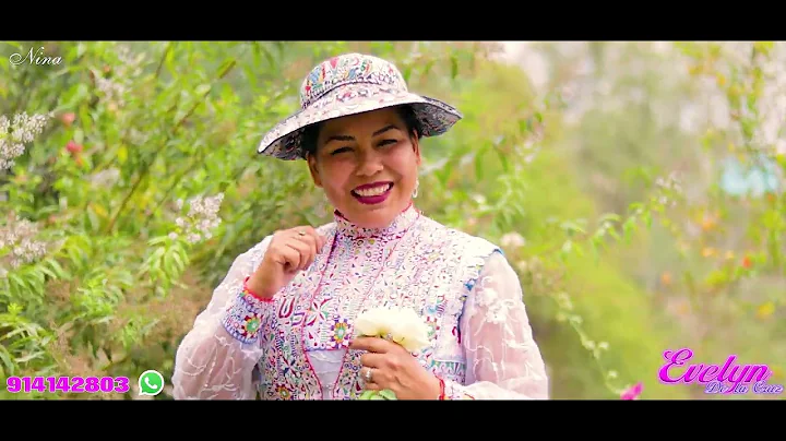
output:
[[440,382],[401,345],[378,337],[358,337],[350,349],[367,350],[360,357],[360,376],[369,391],[389,389],[398,400],[439,400]]

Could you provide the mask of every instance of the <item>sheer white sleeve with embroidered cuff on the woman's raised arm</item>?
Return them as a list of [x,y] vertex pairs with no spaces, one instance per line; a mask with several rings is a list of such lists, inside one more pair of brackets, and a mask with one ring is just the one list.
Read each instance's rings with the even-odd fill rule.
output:
[[262,357],[258,332],[273,302],[243,293],[270,237],[240,254],[213,291],[207,308],[178,347],[175,400],[255,400],[252,371]]

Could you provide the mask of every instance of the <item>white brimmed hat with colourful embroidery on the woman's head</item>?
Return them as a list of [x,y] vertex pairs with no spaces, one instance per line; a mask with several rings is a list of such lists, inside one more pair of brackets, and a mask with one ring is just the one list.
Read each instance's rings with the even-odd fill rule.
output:
[[404,76],[389,61],[362,53],[334,57],[306,76],[300,86],[300,109],[273,127],[257,152],[279,159],[302,159],[307,126],[405,104],[412,106],[422,136],[440,135],[462,118],[445,103],[410,93]]

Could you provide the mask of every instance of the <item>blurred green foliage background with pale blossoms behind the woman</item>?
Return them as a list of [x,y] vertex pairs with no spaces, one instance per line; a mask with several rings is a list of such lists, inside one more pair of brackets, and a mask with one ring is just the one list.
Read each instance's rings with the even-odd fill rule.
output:
[[[504,247],[555,398],[782,400],[664,385],[786,363],[786,46],[755,43],[0,44],[0,379],[128,376],[140,397],[235,257],[332,219],[303,163],[255,155],[346,51],[457,105],[418,204]],[[628,394],[626,394],[628,391]],[[636,395],[633,393],[632,395]]]

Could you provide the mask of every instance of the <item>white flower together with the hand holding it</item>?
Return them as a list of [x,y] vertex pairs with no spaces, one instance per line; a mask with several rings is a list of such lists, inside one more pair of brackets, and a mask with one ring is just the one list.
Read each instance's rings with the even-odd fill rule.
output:
[[356,320],[360,335],[349,348],[366,350],[360,400],[437,400],[440,381],[412,353],[428,346],[429,326],[413,310],[374,309]]

